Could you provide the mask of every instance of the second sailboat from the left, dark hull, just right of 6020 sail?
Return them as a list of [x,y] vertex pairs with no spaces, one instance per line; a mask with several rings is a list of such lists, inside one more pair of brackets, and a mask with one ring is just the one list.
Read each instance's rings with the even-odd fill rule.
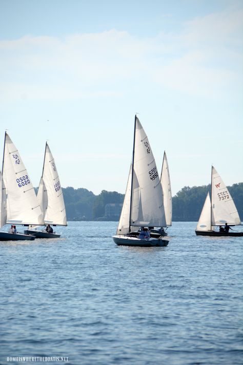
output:
[[[67,225],[62,187],[60,185],[54,158],[47,143],[37,199],[42,210],[45,224],[54,226]],[[50,233],[46,230],[37,230],[36,227],[31,226],[25,230],[25,233],[28,235],[34,235],[36,238],[60,237],[59,234],[54,232]]]

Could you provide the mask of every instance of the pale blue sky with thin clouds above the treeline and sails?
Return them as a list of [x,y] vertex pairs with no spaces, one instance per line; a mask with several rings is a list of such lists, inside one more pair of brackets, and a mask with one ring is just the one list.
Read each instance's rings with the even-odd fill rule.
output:
[[0,155],[38,186],[48,141],[63,187],[124,194],[137,113],[173,196],[242,182],[242,44],[238,0],[0,0]]

